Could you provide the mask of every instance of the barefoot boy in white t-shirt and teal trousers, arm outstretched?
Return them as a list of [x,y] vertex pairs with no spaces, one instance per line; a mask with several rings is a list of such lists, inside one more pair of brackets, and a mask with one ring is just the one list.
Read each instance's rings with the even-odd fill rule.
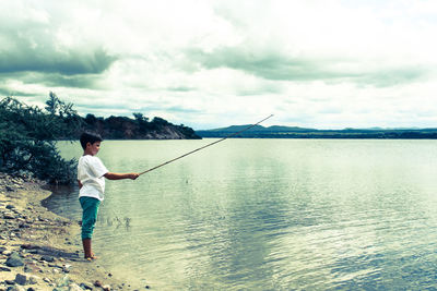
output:
[[96,259],[91,247],[94,226],[101,202],[104,199],[105,178],[109,180],[135,180],[138,173],[113,173],[103,165],[97,155],[101,149],[102,137],[98,134],[85,132],[81,135],[83,156],[78,162],[79,201],[82,214],[82,243],[85,258]]

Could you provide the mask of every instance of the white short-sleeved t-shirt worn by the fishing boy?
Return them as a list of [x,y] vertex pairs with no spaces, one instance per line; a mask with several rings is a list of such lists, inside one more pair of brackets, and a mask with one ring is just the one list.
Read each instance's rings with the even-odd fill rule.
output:
[[78,180],[83,185],[79,191],[79,197],[87,196],[103,201],[105,193],[103,175],[107,172],[99,158],[91,155],[82,156],[78,162]]

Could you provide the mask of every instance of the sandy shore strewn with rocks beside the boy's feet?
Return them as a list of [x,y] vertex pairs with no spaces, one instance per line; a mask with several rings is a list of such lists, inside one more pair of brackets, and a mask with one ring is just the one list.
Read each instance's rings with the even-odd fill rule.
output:
[[50,195],[42,186],[0,173],[0,291],[151,289],[84,259],[79,225],[42,206]]

